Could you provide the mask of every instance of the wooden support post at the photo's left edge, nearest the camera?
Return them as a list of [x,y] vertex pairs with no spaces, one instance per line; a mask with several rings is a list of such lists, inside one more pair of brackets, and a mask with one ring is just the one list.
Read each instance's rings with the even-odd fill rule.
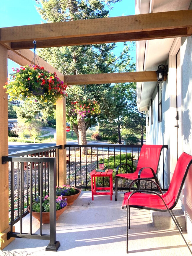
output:
[[9,229],[9,169],[8,163],[2,164],[2,156],[8,155],[8,101],[3,88],[7,81],[7,48],[0,45],[0,249],[13,239],[7,240]]

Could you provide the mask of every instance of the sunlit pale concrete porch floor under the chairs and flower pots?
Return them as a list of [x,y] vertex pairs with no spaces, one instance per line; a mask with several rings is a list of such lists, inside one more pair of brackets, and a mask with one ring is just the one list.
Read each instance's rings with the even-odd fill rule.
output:
[[[121,209],[123,192],[118,192],[110,201],[109,195],[82,192],[73,205],[68,206],[57,221],[57,240],[61,243],[57,252],[46,252],[47,240],[16,238],[0,251],[0,255],[127,255],[126,218],[127,210]],[[23,219],[29,232],[29,215]],[[33,232],[39,233],[39,223],[33,218]],[[19,223],[15,225],[19,232]],[[43,224],[43,234],[49,234],[49,224]],[[177,230],[157,229],[151,224],[148,210],[131,209],[129,229],[129,255],[191,255]]]

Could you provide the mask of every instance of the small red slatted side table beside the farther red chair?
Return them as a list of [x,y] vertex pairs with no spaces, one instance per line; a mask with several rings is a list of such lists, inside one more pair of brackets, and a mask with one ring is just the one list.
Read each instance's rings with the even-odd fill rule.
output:
[[[113,195],[113,170],[109,169],[107,172],[100,172],[92,170],[91,175],[91,192],[92,200],[94,200],[93,195],[110,195],[110,200],[112,200]],[[109,177],[109,187],[96,187],[95,177]],[[94,179],[94,181],[93,181]],[[110,192],[96,192],[96,190],[110,190]]]

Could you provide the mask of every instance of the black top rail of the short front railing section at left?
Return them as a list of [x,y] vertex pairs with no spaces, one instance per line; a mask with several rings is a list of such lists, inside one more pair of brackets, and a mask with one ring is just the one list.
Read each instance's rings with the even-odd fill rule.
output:
[[3,156],[2,164],[6,162],[35,162],[35,163],[55,163],[56,157],[12,157]]

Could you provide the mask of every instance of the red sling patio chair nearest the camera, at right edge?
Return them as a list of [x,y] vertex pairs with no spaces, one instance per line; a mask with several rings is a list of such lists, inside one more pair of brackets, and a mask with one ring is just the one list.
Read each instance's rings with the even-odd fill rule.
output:
[[[178,202],[180,192],[182,190],[182,187],[185,182],[191,163],[192,163],[192,156],[183,152],[177,161],[175,171],[173,173],[173,177],[170,182],[169,189],[165,194],[162,194],[160,187],[154,181],[152,182],[154,182],[157,185],[162,195],[160,195],[155,191],[149,192],[143,189],[142,190],[139,189],[134,192],[125,193],[123,203],[122,203],[122,208],[127,208],[127,253],[128,253],[128,229],[130,229],[130,208],[131,207],[139,208],[139,209],[154,210],[154,211],[168,211],[175,225],[177,226],[181,236],[183,237],[187,247],[191,252],[191,249],[182,234],[183,229],[172,212],[172,209],[175,207],[175,205]],[[146,179],[140,178],[136,180],[146,180]],[[131,182],[131,184],[133,184],[133,182]],[[131,187],[131,184],[130,184],[130,187]]]

